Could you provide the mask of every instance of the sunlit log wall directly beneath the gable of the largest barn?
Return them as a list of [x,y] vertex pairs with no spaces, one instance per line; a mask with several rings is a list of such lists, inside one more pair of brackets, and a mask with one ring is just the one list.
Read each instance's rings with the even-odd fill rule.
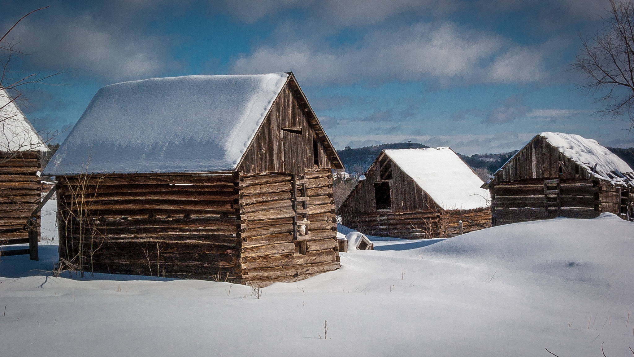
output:
[[328,168],[307,170],[309,234],[306,254],[293,239],[292,175],[240,175],[240,224],[243,281],[266,285],[296,281],[339,268],[337,219]]

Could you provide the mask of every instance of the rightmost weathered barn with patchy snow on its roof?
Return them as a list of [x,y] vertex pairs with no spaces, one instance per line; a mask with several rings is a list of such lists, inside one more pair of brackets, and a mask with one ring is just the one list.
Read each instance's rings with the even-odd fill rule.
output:
[[634,218],[634,172],[597,141],[579,135],[536,135],[483,188],[491,192],[493,225],[602,212]]

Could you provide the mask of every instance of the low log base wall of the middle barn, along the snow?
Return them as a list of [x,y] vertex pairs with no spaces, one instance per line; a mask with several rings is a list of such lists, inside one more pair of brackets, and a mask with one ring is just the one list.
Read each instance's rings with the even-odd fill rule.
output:
[[342,215],[342,224],[363,234],[406,239],[448,238],[491,227],[491,210],[422,210]]

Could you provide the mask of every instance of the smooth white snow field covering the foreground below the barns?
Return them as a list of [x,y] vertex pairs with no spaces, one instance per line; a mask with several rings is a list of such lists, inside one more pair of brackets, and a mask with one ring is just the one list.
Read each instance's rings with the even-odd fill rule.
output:
[[57,246],[42,245],[41,262],[0,262],[0,355],[565,357],[604,343],[631,356],[634,223],[604,213],[373,240],[260,299],[223,282],[52,278]]

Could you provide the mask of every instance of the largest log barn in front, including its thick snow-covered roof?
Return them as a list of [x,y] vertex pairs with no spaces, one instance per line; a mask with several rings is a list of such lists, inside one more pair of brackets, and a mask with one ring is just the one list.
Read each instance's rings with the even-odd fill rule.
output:
[[45,170],[60,262],[250,285],[338,269],[342,167],[292,72],[105,86]]

